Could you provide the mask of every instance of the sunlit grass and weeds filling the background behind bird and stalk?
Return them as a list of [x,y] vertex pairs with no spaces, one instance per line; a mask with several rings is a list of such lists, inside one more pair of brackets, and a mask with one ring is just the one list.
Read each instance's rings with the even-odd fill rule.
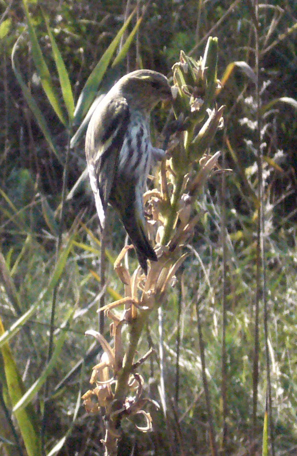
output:
[[[89,372],[96,363],[91,355],[99,347],[94,345],[85,367],[61,385],[91,345],[85,330],[97,325],[101,290],[97,216],[87,181],[69,195],[85,168],[80,138],[69,154],[66,219],[61,225],[63,165],[69,138],[80,122],[69,128],[70,123],[63,124],[49,103],[34,62],[28,21],[50,70],[62,114],[67,119],[68,113],[71,119],[69,105],[64,107],[67,97],[60,90],[44,16],[65,62],[76,103],[135,2],[39,0],[26,4],[29,16],[21,1],[0,2],[0,317],[4,329],[10,328],[13,335],[9,346],[2,345],[0,437],[4,443],[0,452],[38,455],[44,444],[46,454],[52,450],[59,455],[101,455],[102,419],[78,408],[80,392],[88,389]],[[137,5],[128,32],[143,15],[140,28],[127,57],[108,68],[101,90],[138,67],[170,75],[181,49],[198,59],[207,37],[218,36],[218,77],[223,88],[217,99],[226,107],[224,129],[217,133],[212,152],[222,150],[222,166],[233,171],[225,176],[225,183],[222,174],[215,175],[200,195],[197,209],[203,216],[195,230],[193,255],[179,270],[178,284],[162,314],[151,315],[141,340],[141,354],[149,346],[156,349],[156,355],[142,366],[148,394],[161,404],[160,411],[151,411],[153,432],[141,434],[127,424],[119,454],[209,455],[214,451],[209,410],[222,454],[265,454],[262,434],[269,364],[269,428],[273,432],[267,454],[295,455],[297,2],[260,4],[258,17],[256,5],[243,0],[232,5],[216,0],[159,0],[146,2],[144,10],[143,2]],[[47,122],[53,146],[12,68],[12,48],[20,35],[14,64]],[[234,62],[245,62],[256,75],[259,68],[259,90],[249,70],[242,64],[230,65]],[[165,116],[158,110],[153,117],[159,144]],[[123,293],[113,261],[125,239],[113,211],[109,223],[107,302]],[[52,370],[45,372],[53,291],[56,349]],[[26,322],[12,334],[13,323],[22,315]],[[14,379],[12,384],[9,378]],[[38,379],[41,386],[46,378],[46,394],[43,389],[36,394],[35,389],[31,405],[11,414],[12,404]],[[48,396],[48,419],[40,442],[44,397]],[[30,448],[23,447],[24,434],[30,436]],[[55,450],[58,442],[61,449]]]

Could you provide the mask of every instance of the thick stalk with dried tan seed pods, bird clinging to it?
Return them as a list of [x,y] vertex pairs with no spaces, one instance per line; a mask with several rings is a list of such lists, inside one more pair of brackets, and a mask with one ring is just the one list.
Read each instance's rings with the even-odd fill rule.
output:
[[[164,128],[165,136],[170,137],[166,158],[156,188],[144,195],[148,231],[158,261],[150,263],[147,275],[140,266],[130,274],[124,257],[133,246],[125,247],[114,265],[124,284],[125,297],[100,309],[112,321],[113,346],[102,334],[86,332],[103,348],[90,379],[93,389],[83,395],[83,401],[88,412],[104,412],[105,456],[117,454],[122,419],[134,422],[135,415],[142,415],[146,425],[138,429],[148,432],[152,427],[146,404],[153,401],[143,397],[145,380],[138,372],[150,352],[138,360],[135,354],[150,312],[166,301],[168,287],[176,282],[176,271],[188,256],[185,246],[191,243],[201,217],[195,211],[195,201],[209,175],[218,168],[220,152],[210,154],[216,130],[223,126],[223,106],[214,106],[220,84],[217,59],[218,39],[210,37],[203,58],[195,61],[181,51],[179,62],[173,65],[173,109]],[[125,348],[123,327],[129,332]]]

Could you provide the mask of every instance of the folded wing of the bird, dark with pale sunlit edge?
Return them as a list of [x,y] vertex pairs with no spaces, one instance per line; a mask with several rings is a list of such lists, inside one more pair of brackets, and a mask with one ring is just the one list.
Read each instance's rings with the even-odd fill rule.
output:
[[97,106],[86,132],[86,160],[101,228],[129,118],[125,98],[106,97]]

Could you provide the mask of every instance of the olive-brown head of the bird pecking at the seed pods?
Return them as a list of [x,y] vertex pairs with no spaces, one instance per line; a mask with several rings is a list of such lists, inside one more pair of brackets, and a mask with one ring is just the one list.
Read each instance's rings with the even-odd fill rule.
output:
[[150,112],[161,100],[171,100],[168,79],[157,71],[139,69],[123,76],[115,85],[130,106]]

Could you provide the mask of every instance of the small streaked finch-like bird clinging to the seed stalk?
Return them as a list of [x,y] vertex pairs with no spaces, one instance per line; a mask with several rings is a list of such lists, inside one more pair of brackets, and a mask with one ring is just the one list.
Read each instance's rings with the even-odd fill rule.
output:
[[108,203],[117,211],[145,274],[147,260],[157,261],[148,241],[143,194],[153,160],[165,151],[150,140],[150,113],[161,100],[172,100],[163,74],[140,69],[116,82],[88,124],[85,154],[101,231]]

